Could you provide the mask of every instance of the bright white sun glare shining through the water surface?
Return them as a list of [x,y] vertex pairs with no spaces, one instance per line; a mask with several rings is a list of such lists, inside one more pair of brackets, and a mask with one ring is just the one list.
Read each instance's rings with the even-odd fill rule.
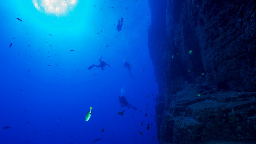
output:
[[72,10],[78,0],[33,0],[38,11],[46,14],[64,15]]

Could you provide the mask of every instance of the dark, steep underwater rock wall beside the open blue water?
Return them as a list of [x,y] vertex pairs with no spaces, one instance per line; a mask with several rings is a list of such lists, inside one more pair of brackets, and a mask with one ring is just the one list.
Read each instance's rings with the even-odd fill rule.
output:
[[256,2],[149,0],[160,143],[256,139]]

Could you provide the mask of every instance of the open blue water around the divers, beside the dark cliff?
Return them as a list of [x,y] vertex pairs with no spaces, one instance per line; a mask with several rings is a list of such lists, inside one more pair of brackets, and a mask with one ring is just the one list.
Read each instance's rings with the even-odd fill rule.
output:
[[2,0],[0,19],[0,144],[158,143],[147,0]]

